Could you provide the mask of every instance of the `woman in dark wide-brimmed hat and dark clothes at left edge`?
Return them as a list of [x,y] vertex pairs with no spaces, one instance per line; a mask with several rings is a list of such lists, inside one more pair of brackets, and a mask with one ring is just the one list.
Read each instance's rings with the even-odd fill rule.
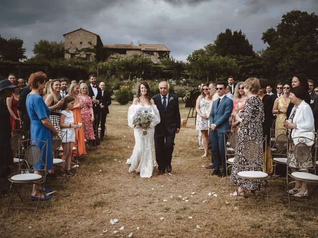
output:
[[[10,174],[8,165],[13,162],[13,154],[10,146],[11,123],[10,113],[5,104],[6,98],[10,97],[16,85],[10,80],[0,81],[0,177],[6,177]],[[0,193],[2,196],[3,193]]]

